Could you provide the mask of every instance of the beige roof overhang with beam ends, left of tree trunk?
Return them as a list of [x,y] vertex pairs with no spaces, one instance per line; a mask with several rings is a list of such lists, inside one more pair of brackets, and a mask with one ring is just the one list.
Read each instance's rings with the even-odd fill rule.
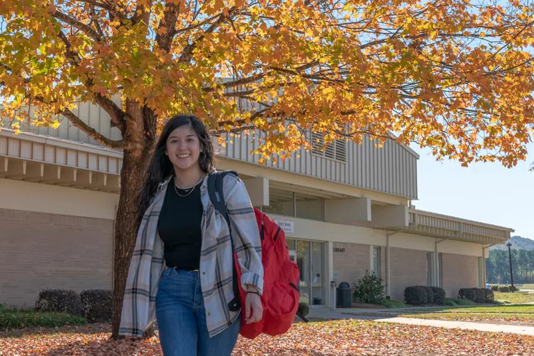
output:
[[116,149],[0,131],[0,178],[119,193],[121,168]]

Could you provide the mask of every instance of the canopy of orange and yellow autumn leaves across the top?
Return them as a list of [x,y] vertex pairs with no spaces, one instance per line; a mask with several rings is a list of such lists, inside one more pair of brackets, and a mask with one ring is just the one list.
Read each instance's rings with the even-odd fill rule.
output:
[[54,127],[79,99],[121,95],[149,125],[191,112],[218,132],[262,131],[264,159],[309,146],[309,131],[325,144],[394,132],[509,167],[534,127],[524,1],[6,0],[0,16],[1,114],[15,129],[28,105]]

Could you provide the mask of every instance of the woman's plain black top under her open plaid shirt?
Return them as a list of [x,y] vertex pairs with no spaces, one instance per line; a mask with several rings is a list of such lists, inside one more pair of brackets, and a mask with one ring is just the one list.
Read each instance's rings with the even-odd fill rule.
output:
[[202,248],[202,202],[200,186],[186,197],[189,190],[175,189],[171,180],[167,187],[165,200],[158,220],[159,237],[165,244],[163,258],[168,267],[181,270],[200,269],[200,250]]

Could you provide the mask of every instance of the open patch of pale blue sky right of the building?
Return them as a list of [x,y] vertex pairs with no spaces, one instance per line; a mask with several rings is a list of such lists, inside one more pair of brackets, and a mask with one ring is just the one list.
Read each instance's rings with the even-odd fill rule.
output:
[[438,162],[427,149],[412,147],[417,163],[416,209],[443,213],[515,229],[512,235],[534,239],[534,143],[528,159],[514,168],[499,162],[464,168],[456,161]]

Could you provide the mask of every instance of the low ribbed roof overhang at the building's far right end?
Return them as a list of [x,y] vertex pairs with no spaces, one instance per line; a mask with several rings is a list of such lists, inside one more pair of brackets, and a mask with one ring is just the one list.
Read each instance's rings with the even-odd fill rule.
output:
[[514,229],[455,218],[416,209],[408,210],[408,226],[387,227],[388,230],[481,244],[504,243]]

